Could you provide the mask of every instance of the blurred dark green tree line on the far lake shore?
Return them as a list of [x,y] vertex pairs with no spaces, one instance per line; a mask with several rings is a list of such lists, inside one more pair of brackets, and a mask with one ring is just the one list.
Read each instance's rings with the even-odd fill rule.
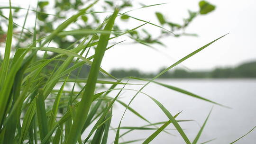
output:
[[[163,69],[160,69],[161,72]],[[139,70],[115,69],[110,72],[117,78],[128,76],[153,78],[155,73],[144,73]],[[256,78],[256,62],[244,63],[235,68],[216,68],[213,71],[188,72],[184,69],[175,69],[165,72],[160,78]]]

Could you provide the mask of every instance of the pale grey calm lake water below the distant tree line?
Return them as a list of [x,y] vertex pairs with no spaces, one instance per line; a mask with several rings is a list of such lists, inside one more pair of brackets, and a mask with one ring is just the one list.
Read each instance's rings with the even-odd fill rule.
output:
[[[146,86],[142,91],[160,101],[173,116],[182,111],[176,119],[195,120],[180,123],[185,134],[191,141],[197,135],[200,129],[199,125],[203,124],[212,106],[214,106],[212,113],[198,141],[199,143],[217,138],[208,144],[229,144],[256,126],[256,79],[172,79],[157,81],[188,90],[206,99],[232,108],[224,108],[201,99],[195,99],[154,83]],[[129,82],[141,83],[141,81]],[[139,90],[141,86],[129,85],[126,88]],[[114,97],[117,92],[118,91],[110,94]],[[120,100],[128,104],[135,93],[134,91],[126,90],[120,96]],[[161,109],[143,94],[138,94],[130,106],[152,123],[168,120]],[[114,105],[111,122],[112,127],[118,127],[123,112],[123,106],[118,103]],[[130,111],[127,111],[121,126],[143,126],[146,124],[144,120],[138,118]],[[167,128],[174,128],[174,126],[170,124]],[[125,131],[127,130],[121,130],[120,134]],[[154,133],[154,131],[155,130],[135,130],[125,135],[119,142],[147,138]],[[175,130],[167,131],[176,136],[162,132],[150,144],[185,144],[178,132]],[[114,137],[115,132],[111,131],[110,143],[113,141]],[[143,141],[139,141],[133,144],[141,144],[142,142]],[[256,130],[239,140],[236,144],[256,144]]]

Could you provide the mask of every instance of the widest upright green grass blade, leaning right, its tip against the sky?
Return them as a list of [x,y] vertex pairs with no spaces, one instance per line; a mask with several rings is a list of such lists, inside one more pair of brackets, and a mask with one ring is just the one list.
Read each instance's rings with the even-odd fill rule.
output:
[[[117,13],[118,10],[115,10],[114,14],[111,16],[109,22],[105,26],[104,30],[112,30]],[[95,58],[93,60],[93,63],[91,64],[91,70],[89,72],[88,81],[82,95],[81,103],[78,106],[77,115],[71,127],[71,135],[68,136],[66,144],[75,144],[79,134],[81,133],[82,126],[86,120],[86,117],[91,106],[93,92],[95,89],[98,73],[100,71],[101,60],[105,53],[109,37],[110,34],[101,34],[100,36],[99,44],[97,45],[95,51]]]

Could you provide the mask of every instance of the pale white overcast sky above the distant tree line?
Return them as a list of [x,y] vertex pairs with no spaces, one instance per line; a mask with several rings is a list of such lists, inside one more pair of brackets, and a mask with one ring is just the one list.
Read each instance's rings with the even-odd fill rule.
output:
[[[22,1],[22,2],[21,2]],[[32,7],[36,7],[31,0]],[[146,21],[158,24],[155,11],[160,11],[168,20],[182,23],[188,16],[188,9],[198,10],[199,0],[140,0],[150,5],[167,2],[168,4],[139,9],[128,13]],[[138,68],[142,71],[158,71],[167,67],[183,56],[211,42],[219,36],[230,33],[210,45],[199,54],[194,55],[182,64],[191,69],[213,69],[220,66],[236,66],[239,63],[256,60],[256,0],[208,0],[217,6],[215,11],[194,19],[186,29],[187,33],[196,33],[199,37],[167,37],[162,40],[167,47],[156,46],[157,52],[144,45],[118,45],[105,53],[102,68]],[[8,5],[7,0],[0,0],[1,5]],[[29,0],[12,0],[15,5],[27,8]],[[35,5],[35,6],[33,6]],[[130,21],[126,26],[137,27],[141,23]],[[127,27],[127,28],[128,28]],[[150,25],[146,29],[154,32],[157,27]],[[127,36],[119,40],[128,39]]]

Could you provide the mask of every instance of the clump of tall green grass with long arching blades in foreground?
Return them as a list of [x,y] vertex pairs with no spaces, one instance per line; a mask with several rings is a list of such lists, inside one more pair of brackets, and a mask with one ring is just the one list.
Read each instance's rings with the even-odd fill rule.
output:
[[[132,140],[126,143],[128,144],[143,140],[142,144],[148,144],[161,132],[168,133],[165,128],[170,124],[175,126],[176,130],[184,139],[184,143],[198,144],[198,140],[210,113],[195,139],[190,140],[179,125],[179,122],[189,120],[176,120],[175,118],[178,117],[180,113],[173,116],[173,114],[171,114],[171,112],[157,99],[142,92],[142,90],[149,83],[154,82],[193,98],[223,106],[187,90],[155,81],[155,79],[165,72],[189,59],[191,56],[199,53],[201,50],[207,48],[223,36],[220,36],[212,42],[202,46],[191,54],[184,56],[167,69],[157,74],[151,80],[133,77],[128,78],[147,81],[147,83],[143,85],[140,90],[133,90],[137,91],[137,93],[127,105],[119,99],[119,95],[122,91],[131,90],[125,88],[126,85],[131,83],[129,83],[129,81],[122,82],[101,68],[101,61],[104,53],[111,47],[118,44],[109,45],[109,41],[110,39],[115,39],[119,36],[133,32],[144,25],[154,25],[158,28],[164,28],[145,20],[135,18],[138,21],[143,21],[145,23],[111,37],[111,34],[114,32],[113,26],[115,24],[115,19],[124,15],[119,13],[119,9],[116,8],[111,16],[105,18],[105,20],[95,29],[65,31],[66,27],[74,23],[80,16],[86,14],[86,12],[95,6],[97,2],[98,0],[92,2],[86,8],[81,9],[77,14],[67,18],[48,36],[37,37],[37,34],[40,33],[40,31],[36,30],[35,25],[33,42],[26,47],[18,47],[15,50],[13,57],[10,57],[10,54],[14,26],[11,2],[9,2],[8,32],[5,43],[4,58],[0,69],[0,144],[107,144],[110,141],[114,141],[114,144],[121,144],[119,139],[123,135],[133,132],[133,130],[155,130],[152,135],[148,135],[145,139]],[[142,8],[146,7],[149,6],[144,6]],[[26,19],[27,15],[25,22]],[[23,28],[25,26],[25,22]],[[35,19],[35,23],[37,23],[37,17]],[[82,34],[83,36],[79,41],[73,43],[67,48],[47,46],[55,36],[71,34]],[[98,41],[95,41],[95,36],[97,35],[100,35],[100,38]],[[92,46],[96,46],[95,54],[89,57],[87,55]],[[44,51],[44,56],[37,54],[39,51]],[[54,56],[49,56],[47,52],[53,52]],[[87,54],[84,56],[85,52],[87,52]],[[55,62],[55,64],[51,65],[53,62]],[[70,77],[72,74],[71,72],[74,70],[79,70],[79,73],[82,72],[81,68],[84,64],[91,66],[88,78],[85,80],[76,76],[75,79],[72,79]],[[54,67],[51,72],[45,71],[49,65]],[[114,81],[98,80],[99,73],[109,76]],[[74,83],[73,89],[64,90],[66,82],[70,81]],[[83,83],[86,84],[83,85]],[[111,84],[111,86],[109,90],[95,93],[96,89],[98,89],[97,84],[99,83]],[[80,87],[79,91],[74,90],[76,84]],[[116,88],[117,85],[123,85],[123,87]],[[110,92],[113,90],[119,91],[114,98],[109,96]],[[135,109],[129,107],[138,93],[142,93],[149,99],[152,99],[168,117],[168,121],[151,123],[149,119],[146,119]],[[112,116],[112,110],[114,110],[113,105],[115,103],[120,103],[126,108],[122,116],[124,116],[126,111],[129,110],[137,117],[146,121],[148,125],[141,127],[123,127],[121,126],[121,118],[119,126],[116,129],[115,138],[110,138],[108,134],[112,129],[110,128],[111,117],[114,117]],[[89,128],[90,125],[92,128]],[[154,128],[150,126],[154,126]],[[120,134],[120,129],[128,129],[128,131]],[[84,133],[85,130],[89,131],[89,133]]]

